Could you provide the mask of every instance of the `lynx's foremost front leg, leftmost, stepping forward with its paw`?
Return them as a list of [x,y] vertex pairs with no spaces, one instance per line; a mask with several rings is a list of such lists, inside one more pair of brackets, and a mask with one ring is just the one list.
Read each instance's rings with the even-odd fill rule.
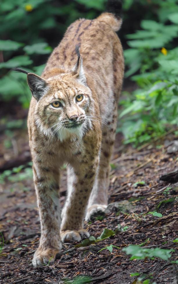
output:
[[[46,158],[46,156],[45,156]],[[41,238],[33,257],[33,265],[55,260],[62,245],[60,240],[59,170],[50,167],[47,159],[33,157],[33,175],[41,223]]]

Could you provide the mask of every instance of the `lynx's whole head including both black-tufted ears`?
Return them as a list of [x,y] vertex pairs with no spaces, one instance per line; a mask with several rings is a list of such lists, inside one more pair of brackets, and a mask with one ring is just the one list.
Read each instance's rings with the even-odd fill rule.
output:
[[92,127],[89,115],[93,101],[78,46],[76,53],[78,60],[71,72],[48,79],[15,68],[27,74],[28,86],[36,100],[37,126],[45,135],[58,137],[61,141],[74,134],[81,138]]

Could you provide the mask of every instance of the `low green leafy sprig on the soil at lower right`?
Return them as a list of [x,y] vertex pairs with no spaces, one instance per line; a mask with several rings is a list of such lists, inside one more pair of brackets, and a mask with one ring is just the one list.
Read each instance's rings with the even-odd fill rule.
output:
[[133,259],[154,259],[155,257],[161,258],[163,260],[168,260],[171,257],[171,252],[174,252],[173,249],[166,250],[159,247],[155,249],[142,248],[138,245],[128,245],[128,247],[123,248],[123,251],[127,255],[131,254],[130,260]]

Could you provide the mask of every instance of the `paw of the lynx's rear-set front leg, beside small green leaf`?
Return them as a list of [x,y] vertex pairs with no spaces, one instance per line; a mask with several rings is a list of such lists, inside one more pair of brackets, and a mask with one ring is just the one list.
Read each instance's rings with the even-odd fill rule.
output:
[[87,230],[81,229],[81,230],[66,230],[61,231],[61,240],[62,242],[66,241],[81,241],[83,238],[89,238],[90,234]]

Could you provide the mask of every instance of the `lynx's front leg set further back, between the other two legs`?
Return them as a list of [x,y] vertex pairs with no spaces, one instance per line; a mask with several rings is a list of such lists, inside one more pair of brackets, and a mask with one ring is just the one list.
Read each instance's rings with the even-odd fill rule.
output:
[[97,168],[98,156],[91,163],[85,158],[83,163],[76,161],[73,164],[73,175],[70,175],[69,196],[63,210],[61,224],[61,239],[63,242],[80,241],[82,237],[89,237],[89,233],[83,229],[83,221]]

